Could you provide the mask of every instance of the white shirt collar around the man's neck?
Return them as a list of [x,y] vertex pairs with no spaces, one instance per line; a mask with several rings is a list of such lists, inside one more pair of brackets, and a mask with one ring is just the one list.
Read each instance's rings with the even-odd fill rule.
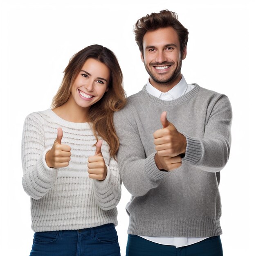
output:
[[182,75],[180,82],[177,83],[168,92],[161,92],[161,91],[157,90],[157,88],[155,88],[153,85],[151,85],[151,83],[149,82],[149,79],[148,79],[148,82],[146,85],[147,92],[157,98],[162,98],[162,97],[166,98],[166,97],[168,97],[168,95],[170,95],[173,99],[177,99],[177,98],[181,97],[186,92],[187,88],[188,88],[188,84],[186,83],[186,80],[183,75]]

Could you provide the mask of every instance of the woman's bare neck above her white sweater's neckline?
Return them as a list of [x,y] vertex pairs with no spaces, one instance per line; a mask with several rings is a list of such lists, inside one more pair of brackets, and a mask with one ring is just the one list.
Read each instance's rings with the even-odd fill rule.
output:
[[88,122],[89,108],[81,108],[80,106],[71,102],[70,98],[66,103],[54,108],[52,111],[62,119],[73,123]]

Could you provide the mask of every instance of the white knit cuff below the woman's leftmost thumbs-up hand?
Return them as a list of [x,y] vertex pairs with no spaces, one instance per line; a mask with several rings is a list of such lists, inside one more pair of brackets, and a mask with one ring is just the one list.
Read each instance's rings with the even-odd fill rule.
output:
[[40,178],[40,180],[42,180],[44,182],[47,182],[47,181],[53,182],[57,176],[58,169],[50,168],[46,164],[45,154],[47,153],[47,151],[49,151],[49,149],[43,151],[42,157],[40,157],[40,159],[38,159],[36,169],[37,169],[37,173],[38,173],[38,178]]

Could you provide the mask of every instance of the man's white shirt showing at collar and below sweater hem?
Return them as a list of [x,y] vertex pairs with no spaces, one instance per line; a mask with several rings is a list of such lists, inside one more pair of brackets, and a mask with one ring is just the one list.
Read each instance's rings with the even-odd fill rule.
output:
[[[195,85],[187,84],[184,76],[182,75],[182,79],[177,85],[175,85],[168,92],[161,92],[157,90],[153,85],[150,84],[149,79],[146,85],[146,90],[149,94],[162,99],[164,101],[172,101],[175,100],[185,93],[191,91]],[[192,245],[194,243],[198,243],[207,237],[155,237],[155,236],[141,236],[151,242],[158,243],[161,245],[173,245],[175,247],[182,247],[187,245]]]

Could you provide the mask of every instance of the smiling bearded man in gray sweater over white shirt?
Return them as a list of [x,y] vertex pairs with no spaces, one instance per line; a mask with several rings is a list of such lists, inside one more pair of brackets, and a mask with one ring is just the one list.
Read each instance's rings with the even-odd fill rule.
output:
[[229,158],[228,98],[181,74],[189,32],[168,10],[139,19],[149,74],[115,113],[119,168],[132,197],[127,256],[221,256],[220,170]]

